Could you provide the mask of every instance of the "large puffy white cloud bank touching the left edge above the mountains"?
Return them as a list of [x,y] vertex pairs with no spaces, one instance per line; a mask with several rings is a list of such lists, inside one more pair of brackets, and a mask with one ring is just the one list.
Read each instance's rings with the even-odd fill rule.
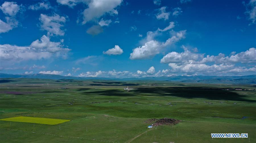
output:
[[32,42],[29,46],[0,45],[0,58],[6,62],[40,60],[53,56],[66,58],[71,49],[63,46],[61,42],[51,42],[49,37],[43,35],[40,40]]

